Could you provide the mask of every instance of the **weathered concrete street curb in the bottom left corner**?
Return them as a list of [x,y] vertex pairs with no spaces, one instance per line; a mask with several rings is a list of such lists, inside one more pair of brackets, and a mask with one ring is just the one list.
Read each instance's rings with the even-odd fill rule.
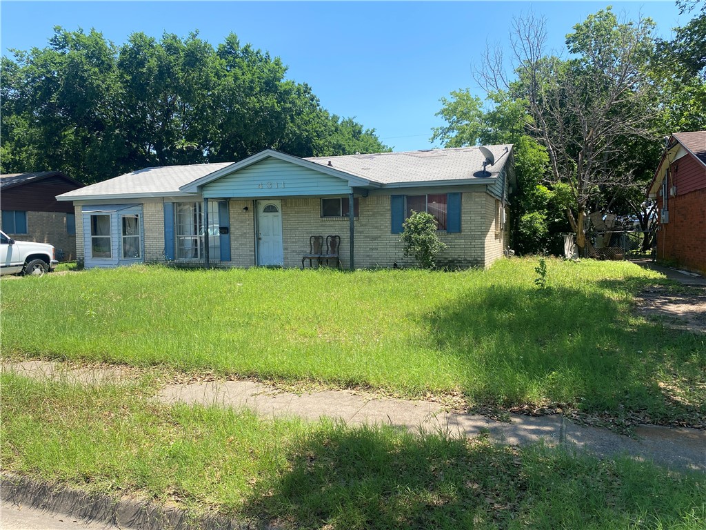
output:
[[[37,510],[59,512],[78,519],[140,530],[250,530],[258,524],[239,523],[215,516],[196,516],[155,502],[122,500],[102,493],[85,493],[60,483],[35,481],[4,473],[0,476],[0,498]],[[265,528],[272,528],[265,525]]]

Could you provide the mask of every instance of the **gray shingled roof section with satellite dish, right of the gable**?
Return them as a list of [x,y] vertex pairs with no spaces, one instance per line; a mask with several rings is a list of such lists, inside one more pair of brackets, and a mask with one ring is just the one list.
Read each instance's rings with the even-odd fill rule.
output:
[[[482,173],[485,157],[477,147],[403,151],[374,155],[319,156],[306,158],[311,162],[329,165],[336,170],[383,184],[463,180],[497,177],[508,160],[512,144],[488,146],[496,163]],[[505,148],[508,153],[505,154]]]

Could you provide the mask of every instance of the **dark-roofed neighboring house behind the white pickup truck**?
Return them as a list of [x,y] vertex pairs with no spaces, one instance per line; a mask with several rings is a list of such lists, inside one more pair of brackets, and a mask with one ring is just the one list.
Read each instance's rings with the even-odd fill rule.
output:
[[73,207],[56,195],[84,184],[61,171],[0,175],[0,211],[3,232],[18,240],[54,245],[57,257],[76,259],[76,223]]

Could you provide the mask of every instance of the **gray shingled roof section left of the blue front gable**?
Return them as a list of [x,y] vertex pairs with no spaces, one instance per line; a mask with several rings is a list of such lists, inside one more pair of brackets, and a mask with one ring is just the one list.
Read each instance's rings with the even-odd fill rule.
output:
[[120,175],[85,188],[59,195],[62,199],[80,200],[108,196],[183,195],[179,187],[209,173],[231,165],[231,162],[194,165],[165,165]]

